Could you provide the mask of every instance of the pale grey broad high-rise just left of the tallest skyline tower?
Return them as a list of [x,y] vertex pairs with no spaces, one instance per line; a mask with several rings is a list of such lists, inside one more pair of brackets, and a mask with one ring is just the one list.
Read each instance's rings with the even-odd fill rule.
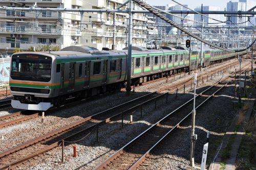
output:
[[[201,7],[197,7],[195,8],[195,11],[220,11],[220,7],[213,7],[213,6],[203,6],[203,8],[201,9]],[[210,18],[214,18],[214,19],[217,19],[217,20],[220,20],[220,15],[218,14],[204,14],[205,16],[202,16],[200,14],[195,14],[194,15],[194,20],[196,21],[202,21],[202,19],[204,20],[205,23],[207,23],[206,25],[208,24],[216,24],[217,22],[219,21],[216,21],[216,20],[213,20],[213,19],[210,19]],[[210,18],[208,18],[210,17]],[[199,22],[194,22],[194,25],[201,25],[201,23]]]

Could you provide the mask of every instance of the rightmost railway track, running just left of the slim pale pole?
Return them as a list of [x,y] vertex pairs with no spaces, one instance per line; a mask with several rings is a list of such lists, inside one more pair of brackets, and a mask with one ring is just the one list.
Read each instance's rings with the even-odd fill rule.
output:
[[[228,79],[228,78],[227,78]],[[212,96],[225,87],[229,81],[219,81],[196,96],[196,109],[203,106]],[[224,84],[224,85],[221,85]],[[193,108],[193,99],[169,113],[138,137],[127,143],[95,169],[136,169],[150,152],[167,135],[185,121]]]

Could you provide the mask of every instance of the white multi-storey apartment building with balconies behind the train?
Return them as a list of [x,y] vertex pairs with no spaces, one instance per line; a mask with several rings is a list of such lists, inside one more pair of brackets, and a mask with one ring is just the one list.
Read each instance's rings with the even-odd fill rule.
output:
[[[33,8],[36,5],[41,8],[116,9],[124,2],[124,0],[0,0],[0,6]],[[121,9],[127,8],[128,5]],[[141,8],[135,5],[134,9]],[[90,45],[101,50],[102,47],[112,48],[113,37],[115,37],[117,50],[121,50],[127,44],[129,16],[126,13],[1,10],[0,18],[0,53],[3,56],[6,53],[8,56],[11,55],[15,48],[27,50],[31,46],[47,44],[60,48],[69,45]],[[133,15],[134,24],[143,25],[146,21],[144,14]],[[145,46],[146,35],[146,27],[133,27],[133,45]]]

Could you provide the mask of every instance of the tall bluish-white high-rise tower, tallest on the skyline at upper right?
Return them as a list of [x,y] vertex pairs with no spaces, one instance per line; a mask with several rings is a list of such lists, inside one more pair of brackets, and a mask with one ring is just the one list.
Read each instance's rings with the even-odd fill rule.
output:
[[[240,0],[242,1],[242,0]],[[246,0],[245,0],[246,1]],[[231,2],[229,1],[227,3],[227,11],[246,11],[246,2]],[[227,22],[228,25],[234,24],[234,23],[242,23],[245,22],[246,17],[241,17],[241,19],[238,17],[238,15],[229,15],[227,16]],[[245,25],[246,23],[244,23]]]

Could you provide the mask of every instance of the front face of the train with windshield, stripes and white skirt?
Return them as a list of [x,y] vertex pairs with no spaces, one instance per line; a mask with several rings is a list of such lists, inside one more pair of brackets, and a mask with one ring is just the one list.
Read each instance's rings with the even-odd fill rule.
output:
[[10,89],[14,96],[11,102],[13,108],[48,110],[53,106],[51,90],[55,86],[52,83],[54,59],[53,55],[47,53],[12,55]]

